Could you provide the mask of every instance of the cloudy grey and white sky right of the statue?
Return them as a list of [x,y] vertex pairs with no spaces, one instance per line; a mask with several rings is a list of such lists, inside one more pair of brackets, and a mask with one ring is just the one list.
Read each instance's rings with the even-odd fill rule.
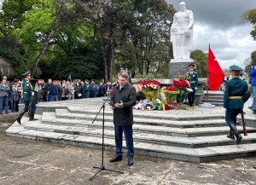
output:
[[[181,0],[166,0],[179,11]],[[256,50],[250,32],[253,25],[241,24],[241,14],[256,9],[256,0],[187,0],[186,9],[194,14],[193,50],[208,53],[210,43],[213,54],[223,69],[231,65],[244,68],[244,61]]]

